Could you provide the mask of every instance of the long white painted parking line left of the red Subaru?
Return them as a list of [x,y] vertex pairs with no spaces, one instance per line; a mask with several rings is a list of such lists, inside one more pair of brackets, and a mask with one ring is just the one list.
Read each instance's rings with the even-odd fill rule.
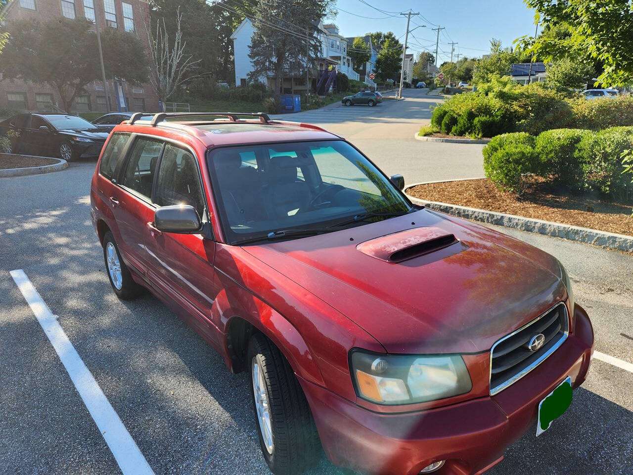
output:
[[60,323],[28,280],[27,274],[22,269],[11,270],[10,274],[68,371],[68,376],[75,384],[123,475],[154,475],[134,439],[112,409],[108,398],[70,343]]

